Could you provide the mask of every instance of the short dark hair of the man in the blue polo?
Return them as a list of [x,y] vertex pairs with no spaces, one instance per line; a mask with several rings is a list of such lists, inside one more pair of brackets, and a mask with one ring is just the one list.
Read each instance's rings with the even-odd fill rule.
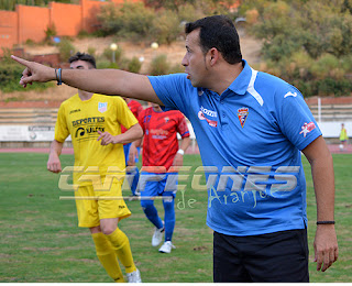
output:
[[212,15],[187,23],[186,34],[200,29],[199,44],[204,52],[216,47],[229,64],[242,61],[240,37],[233,22],[226,15]]

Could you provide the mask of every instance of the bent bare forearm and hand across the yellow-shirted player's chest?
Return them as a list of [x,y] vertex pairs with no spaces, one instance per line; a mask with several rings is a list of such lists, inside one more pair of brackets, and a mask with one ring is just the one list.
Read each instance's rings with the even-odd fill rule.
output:
[[101,132],[99,130],[98,133],[99,138],[97,140],[101,141],[101,145],[131,143],[143,136],[143,130],[139,123],[128,129],[127,132],[116,136],[111,135],[109,132]]

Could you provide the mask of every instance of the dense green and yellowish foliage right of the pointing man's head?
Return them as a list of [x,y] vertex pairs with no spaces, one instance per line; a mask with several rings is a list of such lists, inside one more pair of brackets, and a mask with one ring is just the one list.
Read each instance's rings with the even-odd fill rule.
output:
[[[263,40],[268,73],[305,96],[351,95],[350,0],[243,1],[242,14],[257,14],[249,32]],[[253,11],[256,11],[255,13]]]

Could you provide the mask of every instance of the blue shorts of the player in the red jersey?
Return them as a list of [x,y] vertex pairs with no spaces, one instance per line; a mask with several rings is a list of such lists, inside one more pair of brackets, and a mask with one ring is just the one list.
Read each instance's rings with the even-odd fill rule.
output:
[[178,173],[141,172],[136,194],[141,197],[173,196],[176,197]]

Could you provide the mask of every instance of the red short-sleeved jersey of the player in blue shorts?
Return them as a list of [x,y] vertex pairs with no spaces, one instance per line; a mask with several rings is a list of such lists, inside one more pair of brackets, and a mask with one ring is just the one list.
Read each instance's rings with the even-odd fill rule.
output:
[[144,109],[139,117],[144,131],[143,166],[164,166],[168,169],[178,151],[177,133],[188,138],[189,131],[186,119],[178,110],[157,112]]

